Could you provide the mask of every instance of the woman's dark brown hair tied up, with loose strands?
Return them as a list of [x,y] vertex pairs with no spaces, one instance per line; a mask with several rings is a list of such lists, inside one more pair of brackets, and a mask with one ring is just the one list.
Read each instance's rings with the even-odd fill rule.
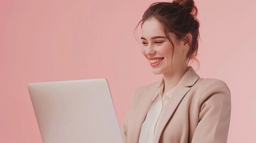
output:
[[[174,0],[173,2],[155,2],[150,5],[144,12],[142,19],[137,24],[141,24],[149,18],[156,18],[162,24],[164,32],[172,46],[174,44],[168,33],[175,34],[178,40],[184,39],[190,45],[187,59],[196,60],[198,53],[198,39],[199,39],[199,21],[196,18],[198,9],[193,0]],[[192,39],[187,37],[187,34],[192,35]],[[198,62],[198,60],[196,60]]]

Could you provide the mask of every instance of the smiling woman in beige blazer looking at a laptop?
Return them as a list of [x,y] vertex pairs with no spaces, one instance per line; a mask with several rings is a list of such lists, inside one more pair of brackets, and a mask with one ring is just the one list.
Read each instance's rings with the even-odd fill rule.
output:
[[229,88],[188,66],[198,51],[196,14],[193,0],[156,2],[144,13],[141,51],[163,78],[135,91],[122,126],[125,142],[227,142]]

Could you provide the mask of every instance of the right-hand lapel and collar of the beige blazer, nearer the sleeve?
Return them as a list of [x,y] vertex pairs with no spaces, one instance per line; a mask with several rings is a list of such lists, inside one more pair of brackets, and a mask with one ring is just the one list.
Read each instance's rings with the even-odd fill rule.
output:
[[198,79],[198,74],[196,74],[192,67],[189,67],[189,70],[187,70],[187,72],[181,78],[180,82],[175,87],[174,92],[172,92],[172,95],[169,98],[169,102],[166,104],[165,110],[162,113],[161,119],[159,119],[155,142],[159,142],[166,123],[171,120],[172,114],[174,114],[180,102],[183,100],[187,92],[189,92],[190,88],[196,83]]

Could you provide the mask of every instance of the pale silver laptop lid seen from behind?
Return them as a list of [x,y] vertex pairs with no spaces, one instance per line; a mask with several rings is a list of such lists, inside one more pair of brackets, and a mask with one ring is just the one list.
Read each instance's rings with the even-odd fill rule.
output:
[[29,83],[44,143],[122,141],[106,79]]

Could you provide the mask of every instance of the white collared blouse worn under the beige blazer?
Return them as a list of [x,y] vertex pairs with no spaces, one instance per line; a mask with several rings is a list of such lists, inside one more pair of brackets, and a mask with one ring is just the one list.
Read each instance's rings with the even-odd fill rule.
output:
[[164,96],[162,96],[163,89],[164,83],[156,92],[149,111],[147,112],[146,119],[141,126],[139,143],[150,143],[154,141],[155,132],[158,129],[158,121],[162,116],[162,111],[164,110],[169,97],[171,97],[172,91],[174,91],[174,88],[172,88],[171,91],[168,91]]

